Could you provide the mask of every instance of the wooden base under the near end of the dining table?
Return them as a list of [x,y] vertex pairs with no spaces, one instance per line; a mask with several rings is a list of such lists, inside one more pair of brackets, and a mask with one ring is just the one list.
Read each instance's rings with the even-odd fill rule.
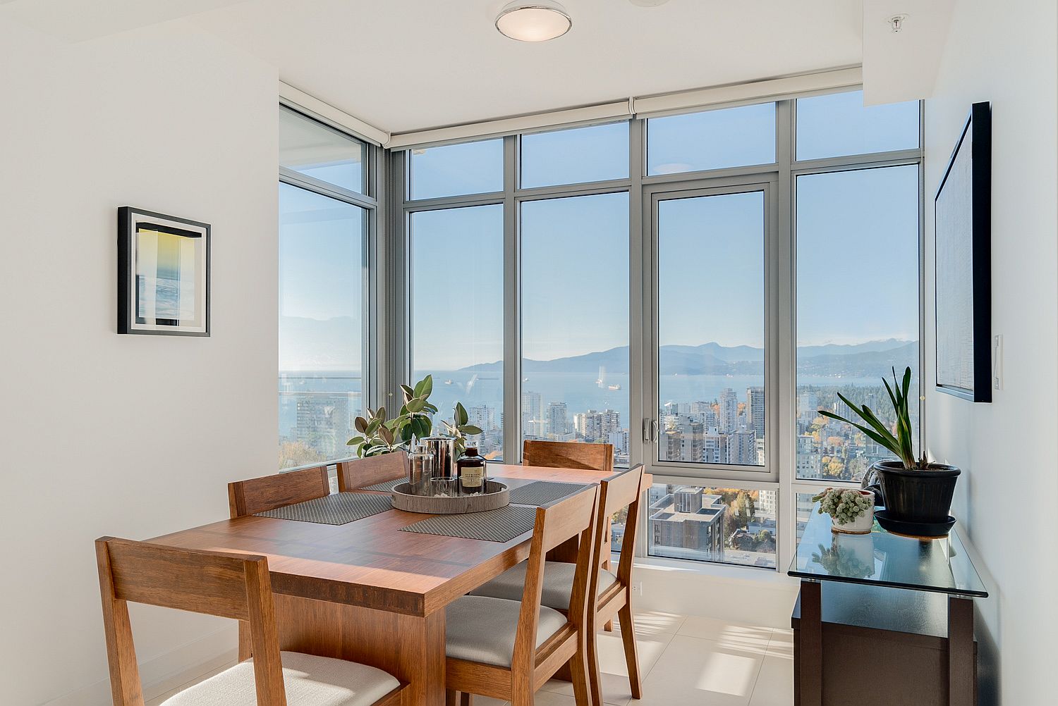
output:
[[408,703],[444,706],[444,610],[407,615],[275,594],[279,649],[378,667],[408,684]]

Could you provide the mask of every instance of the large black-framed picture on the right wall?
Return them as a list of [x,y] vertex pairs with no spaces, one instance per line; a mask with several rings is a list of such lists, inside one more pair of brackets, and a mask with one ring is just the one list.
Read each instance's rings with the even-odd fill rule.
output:
[[975,103],[933,199],[936,389],[991,402],[991,104]]

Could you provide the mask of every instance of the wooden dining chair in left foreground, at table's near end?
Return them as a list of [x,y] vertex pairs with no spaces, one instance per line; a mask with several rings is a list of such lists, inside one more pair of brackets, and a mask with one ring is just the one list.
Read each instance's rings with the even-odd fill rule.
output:
[[280,652],[268,559],[102,537],[95,540],[114,706],[144,706],[128,603],[245,620],[254,657],[165,706],[397,706],[407,685],[367,665]]

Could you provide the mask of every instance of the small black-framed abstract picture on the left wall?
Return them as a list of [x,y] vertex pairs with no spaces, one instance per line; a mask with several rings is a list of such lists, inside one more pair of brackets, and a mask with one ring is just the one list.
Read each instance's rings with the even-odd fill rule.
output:
[[[183,257],[191,257],[194,319],[151,317],[145,318],[140,309],[140,279],[138,277],[138,234],[163,234],[189,242]],[[209,281],[212,244],[208,223],[166,216],[156,211],[122,206],[117,209],[117,333],[147,336],[208,336],[209,335]],[[156,255],[156,264],[160,258]],[[181,272],[178,277],[182,277]],[[190,279],[190,278],[188,278]],[[185,280],[169,280],[169,286],[186,286]],[[183,289],[176,295],[177,305]],[[172,302],[167,302],[171,308]],[[157,313],[157,312],[154,312]]]

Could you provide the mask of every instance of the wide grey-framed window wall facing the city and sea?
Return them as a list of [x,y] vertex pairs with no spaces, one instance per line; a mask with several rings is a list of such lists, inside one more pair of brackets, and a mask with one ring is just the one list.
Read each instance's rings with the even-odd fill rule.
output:
[[917,380],[919,124],[852,91],[395,152],[402,374],[493,458],[645,464],[640,554],[780,568],[805,498],[884,457],[818,411]]

